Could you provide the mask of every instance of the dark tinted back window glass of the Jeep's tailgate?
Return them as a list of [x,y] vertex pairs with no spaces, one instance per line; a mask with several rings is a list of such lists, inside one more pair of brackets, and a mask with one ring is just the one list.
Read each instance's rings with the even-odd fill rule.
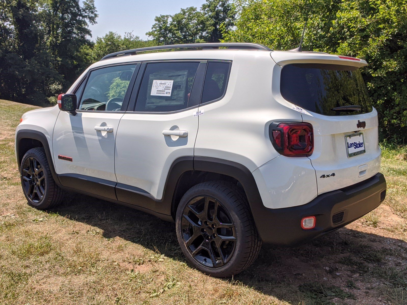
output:
[[[366,85],[356,67],[316,63],[286,65],[281,71],[280,91],[285,100],[323,115],[372,111]],[[333,110],[351,105],[360,106],[360,111]]]

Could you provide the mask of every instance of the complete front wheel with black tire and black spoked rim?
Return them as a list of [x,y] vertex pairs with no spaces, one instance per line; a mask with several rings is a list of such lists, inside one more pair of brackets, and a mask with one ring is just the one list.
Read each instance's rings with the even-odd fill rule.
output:
[[21,185],[28,205],[49,209],[61,202],[63,190],[55,183],[44,148],[31,148],[20,166]]

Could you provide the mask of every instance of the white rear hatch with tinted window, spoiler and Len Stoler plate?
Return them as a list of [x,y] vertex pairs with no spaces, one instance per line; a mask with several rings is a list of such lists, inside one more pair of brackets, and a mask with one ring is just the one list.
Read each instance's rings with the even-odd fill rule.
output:
[[372,177],[380,170],[377,112],[359,68],[361,59],[316,52],[272,52],[282,67],[282,97],[312,124],[318,194]]

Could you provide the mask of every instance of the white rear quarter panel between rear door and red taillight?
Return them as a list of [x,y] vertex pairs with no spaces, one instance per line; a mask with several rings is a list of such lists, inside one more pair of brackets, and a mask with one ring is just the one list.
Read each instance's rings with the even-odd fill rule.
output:
[[303,205],[317,196],[311,161],[281,156],[270,141],[272,122],[302,122],[280,94],[280,70],[271,57],[236,54],[224,98],[199,107],[195,144],[195,158],[224,159],[252,172],[269,208]]

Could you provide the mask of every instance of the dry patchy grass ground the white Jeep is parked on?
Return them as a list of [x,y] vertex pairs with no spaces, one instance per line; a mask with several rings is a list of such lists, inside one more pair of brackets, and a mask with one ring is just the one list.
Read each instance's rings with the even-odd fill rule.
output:
[[214,279],[188,266],[172,223],[77,194],[29,207],[13,142],[35,108],[0,100],[0,304],[407,303],[405,147],[383,147],[378,209],[296,248],[263,247],[240,275]]

